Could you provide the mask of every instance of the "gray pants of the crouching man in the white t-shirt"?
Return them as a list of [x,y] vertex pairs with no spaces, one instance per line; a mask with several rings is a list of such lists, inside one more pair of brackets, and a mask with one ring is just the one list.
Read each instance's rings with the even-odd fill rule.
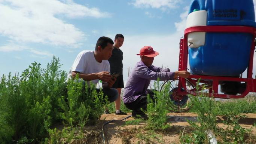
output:
[[[76,80],[74,80],[76,81]],[[78,79],[78,82],[82,81],[82,86],[83,86],[83,90],[85,88],[85,80],[83,79]],[[96,89],[97,93],[100,93],[100,89]],[[113,88],[109,88],[109,89],[102,89],[103,92],[103,97],[105,98],[107,96],[107,100],[109,102],[114,102],[116,101],[116,99],[118,98],[118,91],[116,89]]]

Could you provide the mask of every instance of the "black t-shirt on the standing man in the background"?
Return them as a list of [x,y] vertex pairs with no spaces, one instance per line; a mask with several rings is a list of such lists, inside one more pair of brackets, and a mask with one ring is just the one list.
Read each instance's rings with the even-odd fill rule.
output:
[[112,56],[109,58],[110,73],[123,75],[123,52],[121,49],[114,47]]

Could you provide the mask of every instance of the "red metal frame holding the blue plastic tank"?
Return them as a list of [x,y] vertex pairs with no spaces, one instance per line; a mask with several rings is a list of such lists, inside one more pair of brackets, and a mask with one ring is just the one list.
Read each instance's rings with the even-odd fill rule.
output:
[[[207,82],[205,80],[211,80],[212,88],[209,89],[208,96],[213,96],[214,98],[244,98],[249,92],[256,92],[256,79],[252,78],[253,71],[253,54],[255,50],[255,37],[256,28],[246,27],[246,26],[198,26],[191,27],[185,30],[184,39],[180,39],[180,56],[179,56],[179,71],[187,70],[188,68],[188,34],[193,32],[206,32],[206,33],[250,33],[253,35],[252,48],[250,53],[249,65],[247,67],[247,78],[234,78],[234,77],[218,77],[218,76],[201,76],[201,75],[191,75],[188,79],[180,78],[177,95],[196,95],[196,89],[187,89],[186,80],[195,84],[198,79],[200,83]],[[236,82],[246,82],[246,90],[240,95],[225,95],[218,94],[219,81],[236,81]],[[182,91],[184,88],[186,91]]]

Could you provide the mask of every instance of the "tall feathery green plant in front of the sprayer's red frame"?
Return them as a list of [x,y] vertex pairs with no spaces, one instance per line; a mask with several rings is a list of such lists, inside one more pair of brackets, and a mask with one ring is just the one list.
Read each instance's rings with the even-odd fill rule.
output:
[[[200,79],[199,79],[200,80]],[[206,131],[216,131],[216,116],[217,105],[213,97],[205,96],[201,91],[199,92],[199,80],[196,86],[196,96],[190,96],[190,101],[193,104],[193,110],[198,114],[197,122],[188,120],[189,125],[194,129],[192,135],[180,135],[180,142],[182,144],[205,144],[208,143]]]

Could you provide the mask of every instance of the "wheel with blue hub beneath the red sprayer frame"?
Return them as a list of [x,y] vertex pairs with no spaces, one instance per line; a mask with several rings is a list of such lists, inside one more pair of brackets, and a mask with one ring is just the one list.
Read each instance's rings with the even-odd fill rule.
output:
[[[164,86],[167,85],[167,83],[170,83],[170,90],[168,92],[168,97],[170,98],[170,102],[168,102],[168,105],[170,105],[169,110],[174,113],[183,113],[188,111],[190,108],[188,105],[188,96],[177,95],[179,79],[164,82],[160,91],[164,89]],[[195,86],[193,86],[192,83],[186,79],[186,88],[194,89]],[[182,90],[184,91],[183,88]]]

